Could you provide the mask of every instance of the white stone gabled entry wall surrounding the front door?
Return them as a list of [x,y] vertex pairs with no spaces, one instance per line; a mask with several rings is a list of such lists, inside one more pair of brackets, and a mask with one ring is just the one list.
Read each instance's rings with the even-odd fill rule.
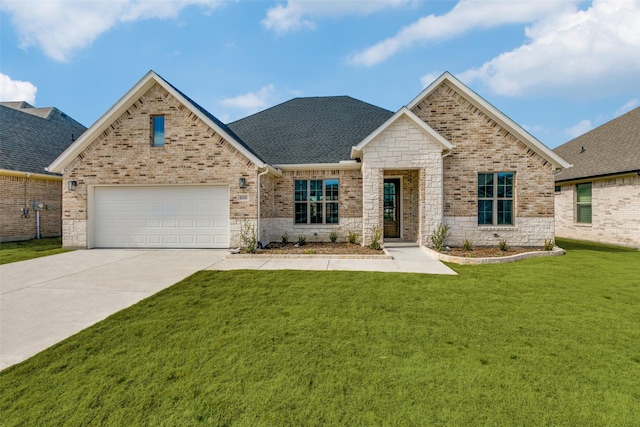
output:
[[[398,119],[366,145],[363,170],[363,244],[369,244],[373,227],[383,228],[385,171],[418,170],[417,242],[424,245],[442,220],[442,147],[409,120]],[[415,175],[413,175],[415,178]],[[411,188],[411,187],[409,187]]]

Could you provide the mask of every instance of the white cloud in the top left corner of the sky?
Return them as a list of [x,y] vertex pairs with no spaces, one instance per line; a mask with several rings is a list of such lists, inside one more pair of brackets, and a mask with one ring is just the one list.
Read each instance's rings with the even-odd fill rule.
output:
[[221,0],[5,0],[1,10],[11,14],[21,47],[39,46],[45,55],[63,62],[119,22],[174,18],[190,5],[210,11],[220,3]]

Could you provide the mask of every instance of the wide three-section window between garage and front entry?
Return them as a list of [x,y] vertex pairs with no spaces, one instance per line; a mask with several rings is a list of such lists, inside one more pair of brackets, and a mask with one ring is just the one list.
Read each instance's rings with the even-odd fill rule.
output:
[[338,179],[296,180],[294,218],[296,224],[337,224]]

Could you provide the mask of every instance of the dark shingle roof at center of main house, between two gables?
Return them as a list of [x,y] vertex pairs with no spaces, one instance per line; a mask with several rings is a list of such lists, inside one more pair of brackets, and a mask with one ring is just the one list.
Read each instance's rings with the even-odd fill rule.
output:
[[348,96],[294,98],[228,127],[272,165],[338,163],[392,115]]

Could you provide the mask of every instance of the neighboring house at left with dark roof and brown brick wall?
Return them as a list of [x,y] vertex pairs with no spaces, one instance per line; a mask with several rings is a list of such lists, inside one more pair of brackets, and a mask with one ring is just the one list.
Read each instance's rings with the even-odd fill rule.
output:
[[45,167],[85,129],[56,108],[0,103],[0,241],[37,237],[38,219],[41,237],[60,236],[62,176]]

